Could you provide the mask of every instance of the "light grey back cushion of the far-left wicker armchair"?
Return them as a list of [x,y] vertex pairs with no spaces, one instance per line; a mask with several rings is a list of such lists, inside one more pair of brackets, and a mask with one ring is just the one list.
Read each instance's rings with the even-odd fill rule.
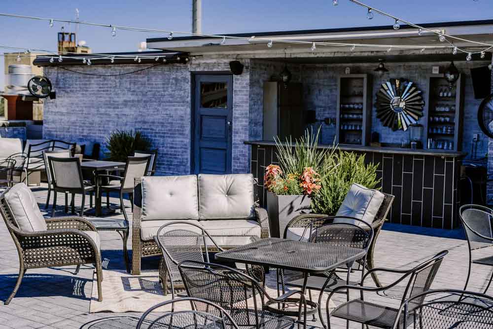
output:
[[17,227],[26,232],[45,231],[46,221],[39,211],[36,198],[24,183],[15,184],[5,193],[5,201]]

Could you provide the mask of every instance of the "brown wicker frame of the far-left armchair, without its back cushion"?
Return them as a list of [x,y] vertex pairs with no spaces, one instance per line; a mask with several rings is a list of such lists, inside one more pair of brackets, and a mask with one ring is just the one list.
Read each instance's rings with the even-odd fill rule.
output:
[[19,276],[5,304],[8,304],[19,290],[22,278],[28,269],[80,264],[95,265],[98,300],[102,301],[103,273],[96,228],[83,218],[71,216],[46,219],[46,230],[34,232],[21,230],[6,201],[6,194],[11,188],[0,194],[0,215],[5,220],[19,254]]

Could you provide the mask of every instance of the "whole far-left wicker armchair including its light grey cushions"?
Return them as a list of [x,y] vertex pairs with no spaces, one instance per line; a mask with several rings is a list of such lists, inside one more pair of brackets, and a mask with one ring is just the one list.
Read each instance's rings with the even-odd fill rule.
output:
[[81,217],[44,219],[33,192],[24,183],[0,194],[0,215],[19,254],[19,276],[8,304],[30,268],[94,264],[98,300],[103,300],[100,237],[98,231]]

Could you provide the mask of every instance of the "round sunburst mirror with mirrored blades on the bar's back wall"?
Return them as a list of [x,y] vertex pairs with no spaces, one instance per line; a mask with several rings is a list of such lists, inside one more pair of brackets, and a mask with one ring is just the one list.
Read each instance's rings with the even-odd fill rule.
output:
[[416,84],[404,79],[382,83],[377,93],[377,118],[393,131],[406,131],[423,116],[423,96]]

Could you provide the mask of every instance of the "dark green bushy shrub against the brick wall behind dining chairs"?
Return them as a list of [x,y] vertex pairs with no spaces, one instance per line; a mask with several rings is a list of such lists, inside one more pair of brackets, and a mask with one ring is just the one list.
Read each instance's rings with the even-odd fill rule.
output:
[[150,140],[140,131],[116,130],[106,138],[106,157],[110,161],[127,162],[127,157],[133,155],[136,150],[147,152],[150,147]]

